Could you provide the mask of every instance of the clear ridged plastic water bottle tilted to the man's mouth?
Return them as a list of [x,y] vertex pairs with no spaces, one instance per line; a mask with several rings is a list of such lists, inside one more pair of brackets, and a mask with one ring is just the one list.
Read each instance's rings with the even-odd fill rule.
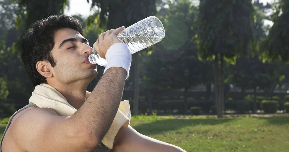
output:
[[[160,19],[155,16],[138,21],[117,35],[117,37],[129,47],[131,54],[160,42],[164,36],[165,31],[163,24]],[[104,67],[107,65],[107,61],[101,58],[94,48],[88,60],[92,64],[98,64]]]

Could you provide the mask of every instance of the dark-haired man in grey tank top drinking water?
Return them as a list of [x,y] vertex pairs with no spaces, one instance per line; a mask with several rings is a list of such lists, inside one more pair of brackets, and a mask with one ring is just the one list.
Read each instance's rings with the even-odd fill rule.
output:
[[[97,70],[88,62],[92,48],[82,36],[79,21],[65,15],[36,21],[21,41],[21,57],[36,86],[32,97],[37,88],[48,87],[57,96],[47,99],[47,103],[59,104],[56,98],[61,97],[66,106],[71,106],[68,108],[77,111],[62,115],[65,109],[57,109],[59,106],[41,108],[40,104],[29,103],[12,115],[0,151],[104,151],[100,147],[106,134],[113,130],[114,121],[118,121],[115,117],[131,63],[129,49],[116,36],[122,30],[124,27],[108,30],[94,43],[108,66],[87,98],[86,88],[97,76]],[[48,93],[40,90],[40,94]],[[121,126],[116,133],[111,151],[184,151],[142,135],[129,125]]]

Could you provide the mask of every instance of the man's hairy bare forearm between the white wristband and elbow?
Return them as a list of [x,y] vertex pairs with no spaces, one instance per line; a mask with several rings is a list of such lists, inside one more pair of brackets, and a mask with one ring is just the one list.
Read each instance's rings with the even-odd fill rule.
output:
[[108,69],[84,104],[71,117],[85,125],[92,141],[98,144],[107,133],[116,115],[125,83],[126,71],[120,67]]

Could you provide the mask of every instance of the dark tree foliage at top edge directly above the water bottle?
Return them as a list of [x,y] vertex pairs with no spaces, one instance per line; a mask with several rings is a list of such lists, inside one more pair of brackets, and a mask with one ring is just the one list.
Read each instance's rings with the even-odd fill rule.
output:
[[107,26],[108,29],[128,27],[145,17],[156,14],[155,0],[137,2],[92,0],[91,7],[94,6],[101,8],[101,11],[96,12],[99,14],[99,23],[101,26]]

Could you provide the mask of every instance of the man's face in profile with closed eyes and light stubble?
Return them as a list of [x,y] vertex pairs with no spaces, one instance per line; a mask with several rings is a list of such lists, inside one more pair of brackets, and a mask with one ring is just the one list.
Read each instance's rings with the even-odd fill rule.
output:
[[88,62],[92,47],[77,31],[63,28],[55,31],[54,47],[51,50],[56,65],[52,68],[54,81],[73,83],[97,76],[96,65]]

